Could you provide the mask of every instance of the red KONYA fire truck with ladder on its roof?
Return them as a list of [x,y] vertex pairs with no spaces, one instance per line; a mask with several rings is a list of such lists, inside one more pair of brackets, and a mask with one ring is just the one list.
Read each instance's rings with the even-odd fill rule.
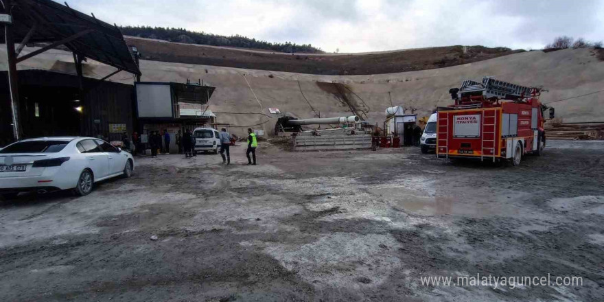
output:
[[[542,91],[491,77],[450,89],[455,104],[437,113],[437,156],[519,165],[524,154],[542,155],[548,109],[539,102]],[[553,118],[553,108],[549,113]]]

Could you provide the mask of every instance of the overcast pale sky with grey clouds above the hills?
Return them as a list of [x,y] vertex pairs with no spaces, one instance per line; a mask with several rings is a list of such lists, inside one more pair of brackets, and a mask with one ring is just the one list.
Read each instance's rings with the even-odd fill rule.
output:
[[[62,3],[62,1],[60,1]],[[443,45],[540,49],[604,40],[604,0],[71,0],[117,25],[183,27],[360,52]]]

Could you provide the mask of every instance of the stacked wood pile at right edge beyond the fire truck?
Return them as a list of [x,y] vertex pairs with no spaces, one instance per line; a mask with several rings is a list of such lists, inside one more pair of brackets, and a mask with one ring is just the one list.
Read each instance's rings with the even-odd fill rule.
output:
[[546,137],[572,141],[604,139],[604,123],[546,124]]

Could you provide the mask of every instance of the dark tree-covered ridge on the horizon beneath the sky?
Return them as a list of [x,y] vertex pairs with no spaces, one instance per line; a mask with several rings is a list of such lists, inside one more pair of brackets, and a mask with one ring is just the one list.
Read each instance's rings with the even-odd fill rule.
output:
[[184,28],[166,28],[150,26],[122,26],[121,32],[126,36],[137,36],[141,38],[152,38],[177,43],[201,44],[213,46],[242,47],[251,49],[266,49],[279,52],[304,52],[309,54],[323,54],[320,48],[312,47],[310,44],[296,43],[270,43],[245,36],[220,36],[207,34],[205,32],[191,32]]

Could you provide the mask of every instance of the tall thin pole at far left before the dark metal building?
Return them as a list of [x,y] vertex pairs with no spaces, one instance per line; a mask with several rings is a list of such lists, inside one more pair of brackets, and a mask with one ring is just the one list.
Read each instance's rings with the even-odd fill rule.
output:
[[10,108],[12,113],[12,134],[15,141],[21,139],[21,124],[19,123],[19,83],[16,76],[16,54],[14,51],[14,40],[12,37],[12,0],[3,0],[3,13],[1,15],[4,23],[4,36],[6,43],[6,54],[8,56],[8,86],[10,89]]

